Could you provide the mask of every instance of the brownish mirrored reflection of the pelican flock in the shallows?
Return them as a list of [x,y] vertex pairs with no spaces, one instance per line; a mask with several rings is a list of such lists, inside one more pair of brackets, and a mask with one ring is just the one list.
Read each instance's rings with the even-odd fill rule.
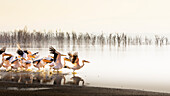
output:
[[84,80],[73,74],[73,76],[66,80],[69,74],[56,73],[31,73],[31,72],[0,72],[0,81],[14,82],[24,84],[47,84],[47,85],[71,85],[71,86],[84,86]]

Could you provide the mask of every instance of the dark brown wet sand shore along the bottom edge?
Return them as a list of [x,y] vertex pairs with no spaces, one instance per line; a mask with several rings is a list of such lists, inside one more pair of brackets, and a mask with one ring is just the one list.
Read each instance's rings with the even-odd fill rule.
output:
[[[13,89],[14,88],[14,89]],[[24,89],[25,88],[25,89]],[[26,90],[27,88],[46,88]],[[24,90],[21,90],[24,89]],[[0,96],[170,96],[168,93],[87,86],[56,86],[0,82]]]

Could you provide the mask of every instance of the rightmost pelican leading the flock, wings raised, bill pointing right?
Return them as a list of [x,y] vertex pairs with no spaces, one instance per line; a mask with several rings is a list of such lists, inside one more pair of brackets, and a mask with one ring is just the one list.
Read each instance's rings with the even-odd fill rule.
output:
[[72,59],[72,63],[74,64],[74,66],[73,67],[65,66],[65,68],[73,69],[73,74],[74,74],[75,70],[79,70],[79,69],[81,69],[85,65],[84,64],[85,62],[86,63],[90,63],[89,61],[82,60],[82,64],[83,65],[80,66],[79,58],[78,58],[78,53],[76,52],[76,53],[73,54],[73,59]]

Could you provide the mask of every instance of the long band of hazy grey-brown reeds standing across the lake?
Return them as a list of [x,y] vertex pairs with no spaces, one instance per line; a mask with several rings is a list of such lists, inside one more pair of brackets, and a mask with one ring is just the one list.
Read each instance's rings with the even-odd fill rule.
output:
[[130,46],[130,45],[168,45],[168,38],[155,35],[154,38],[147,36],[128,36],[124,33],[110,33],[94,35],[90,33],[68,33],[68,32],[28,32],[27,28],[10,32],[0,32],[1,46],[16,47],[20,44],[23,47],[48,47],[48,45],[109,45],[109,46]]

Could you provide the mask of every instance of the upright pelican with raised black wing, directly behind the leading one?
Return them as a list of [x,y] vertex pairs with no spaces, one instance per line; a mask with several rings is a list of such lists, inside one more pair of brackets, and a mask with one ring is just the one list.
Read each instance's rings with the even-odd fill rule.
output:
[[62,69],[64,66],[61,63],[61,56],[65,56],[62,55],[60,52],[56,51],[52,46],[49,48],[49,51],[51,54],[54,54],[54,70],[57,70],[57,72],[59,71],[59,69]]

